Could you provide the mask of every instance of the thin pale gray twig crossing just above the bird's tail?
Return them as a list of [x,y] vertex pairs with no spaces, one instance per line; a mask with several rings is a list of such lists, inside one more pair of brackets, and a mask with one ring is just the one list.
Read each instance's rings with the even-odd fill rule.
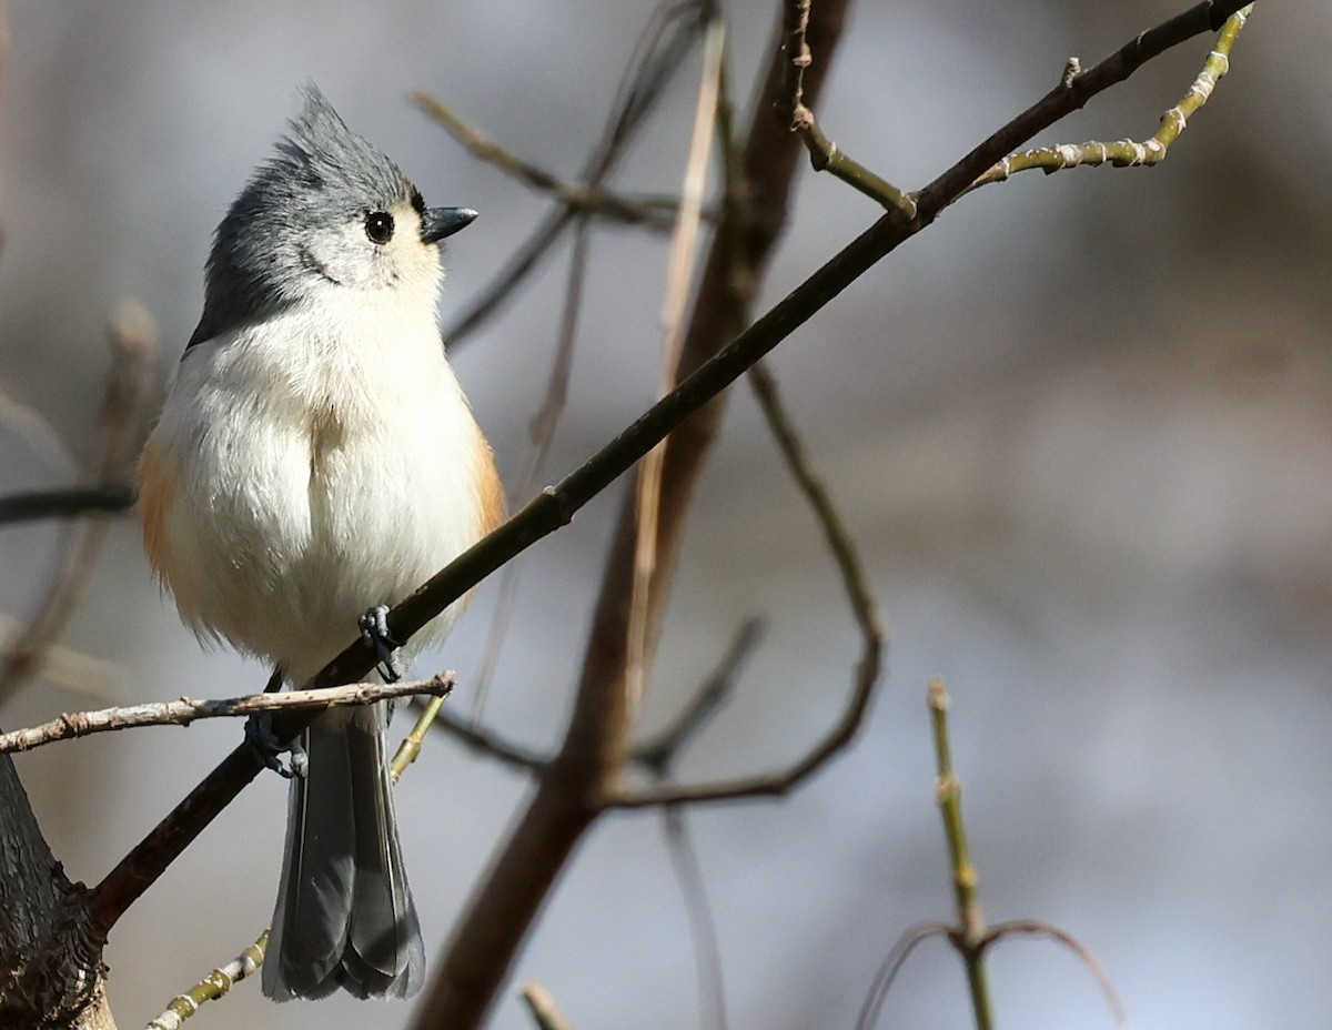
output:
[[71,712],[60,718],[31,729],[0,733],[0,754],[29,752],[56,741],[89,737],[95,733],[140,726],[188,726],[204,718],[237,718],[256,712],[290,712],[302,709],[345,708],[370,705],[398,697],[432,694],[445,698],[453,690],[453,673],[441,673],[429,680],[397,684],[350,684],[320,690],[290,690],[285,694],[246,694],[230,698],[189,698],[155,701],[145,705],[105,708],[97,712]]

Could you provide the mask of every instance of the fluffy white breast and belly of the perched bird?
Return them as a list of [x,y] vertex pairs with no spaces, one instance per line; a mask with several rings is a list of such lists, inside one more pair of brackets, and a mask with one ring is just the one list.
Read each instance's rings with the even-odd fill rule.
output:
[[332,297],[185,354],[153,557],[196,630],[300,682],[480,538],[490,456],[428,314]]

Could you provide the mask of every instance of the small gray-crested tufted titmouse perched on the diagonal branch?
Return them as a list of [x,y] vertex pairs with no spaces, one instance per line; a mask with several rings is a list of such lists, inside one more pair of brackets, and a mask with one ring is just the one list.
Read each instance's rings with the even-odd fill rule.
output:
[[[474,217],[425,207],[310,85],[217,228],[204,316],[139,465],[140,516],[184,621],[272,660],[274,680],[306,681],[362,612],[502,517],[436,324],[438,244]],[[421,986],[388,720],[385,705],[341,709],[305,733],[264,965],[272,998]]]

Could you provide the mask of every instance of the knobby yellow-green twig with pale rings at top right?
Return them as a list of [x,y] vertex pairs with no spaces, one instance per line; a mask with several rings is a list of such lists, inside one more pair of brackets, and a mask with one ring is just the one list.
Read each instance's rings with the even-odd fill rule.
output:
[[[1147,141],[1063,143],[1055,147],[1042,147],[1035,151],[1011,153],[980,176],[971,188],[975,189],[990,183],[1002,183],[1016,172],[1026,172],[1032,168],[1039,168],[1046,175],[1051,175],[1062,172],[1066,168],[1095,168],[1107,163],[1115,168],[1160,164],[1166,160],[1171,144],[1187,128],[1188,120],[1211,99],[1216,84],[1229,71],[1231,49],[1235,47],[1235,40],[1239,39],[1252,7],[1249,4],[1227,19],[1216,40],[1216,48],[1207,55],[1203,71],[1197,73],[1184,97],[1162,115],[1160,128]],[[1079,75],[1082,75],[1082,71],[1078,65],[1078,59],[1071,57],[1066,65],[1062,85],[1066,88],[1071,87]]]

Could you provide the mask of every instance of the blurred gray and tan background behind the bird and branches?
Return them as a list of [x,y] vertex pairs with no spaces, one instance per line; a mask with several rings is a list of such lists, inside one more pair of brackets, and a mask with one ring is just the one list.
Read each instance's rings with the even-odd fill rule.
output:
[[[727,4],[738,99],[775,5]],[[1183,4],[863,0],[818,115],[915,188],[1055,84]],[[173,365],[198,317],[210,233],[316,80],[433,204],[481,211],[450,240],[448,322],[547,208],[409,105],[430,91],[573,177],[653,4],[566,0],[15,0],[0,135],[0,381],[79,452],[93,446],[124,297]],[[924,708],[947,677],[954,748],[991,919],[1039,918],[1103,961],[1138,1027],[1323,1026],[1332,1007],[1332,7],[1260,4],[1213,101],[1155,169],[1026,173],[967,197],[777,352],[814,460],[894,633],[855,746],[789,801],[687,817],[718,926],[730,1025],[850,1026],[898,934],[951,915]],[[1144,139],[1192,81],[1197,39],[1043,137]],[[815,55],[815,60],[819,55]],[[698,55],[614,185],[678,188]],[[876,217],[802,171],[765,290],[785,294]],[[603,228],[549,480],[651,398],[666,247]],[[567,248],[456,365],[510,482],[551,358]],[[766,305],[765,305],[766,306]],[[73,470],[0,432],[0,489]],[[485,717],[549,748],[563,726],[613,489],[530,553]],[[517,498],[522,500],[522,498]],[[0,612],[23,621],[55,568],[51,525],[0,537]],[[422,666],[484,654],[482,592]],[[856,634],[830,560],[742,385],[693,514],[645,732],[670,718],[733,626],[769,618],[730,706],[681,774],[775,768],[836,718]],[[63,710],[258,689],[204,652],[117,522],[64,641],[104,666],[37,680],[7,729]],[[234,725],[139,730],[17,760],[67,871],[96,882],[237,740]],[[527,794],[437,738],[398,791],[437,953]],[[262,777],[117,926],[112,1003],[143,1025],[229,961],[272,911],[285,785]],[[566,870],[496,1026],[538,979],[579,1027],[701,1025],[679,889],[653,814],[606,819]],[[999,1021],[1111,1026],[1086,970],[1048,943],[994,957]],[[942,943],[922,947],[882,1026],[967,1025]],[[198,1027],[396,1027],[409,1007],[265,1002],[256,983]],[[645,1014],[647,1014],[645,1017]]]

